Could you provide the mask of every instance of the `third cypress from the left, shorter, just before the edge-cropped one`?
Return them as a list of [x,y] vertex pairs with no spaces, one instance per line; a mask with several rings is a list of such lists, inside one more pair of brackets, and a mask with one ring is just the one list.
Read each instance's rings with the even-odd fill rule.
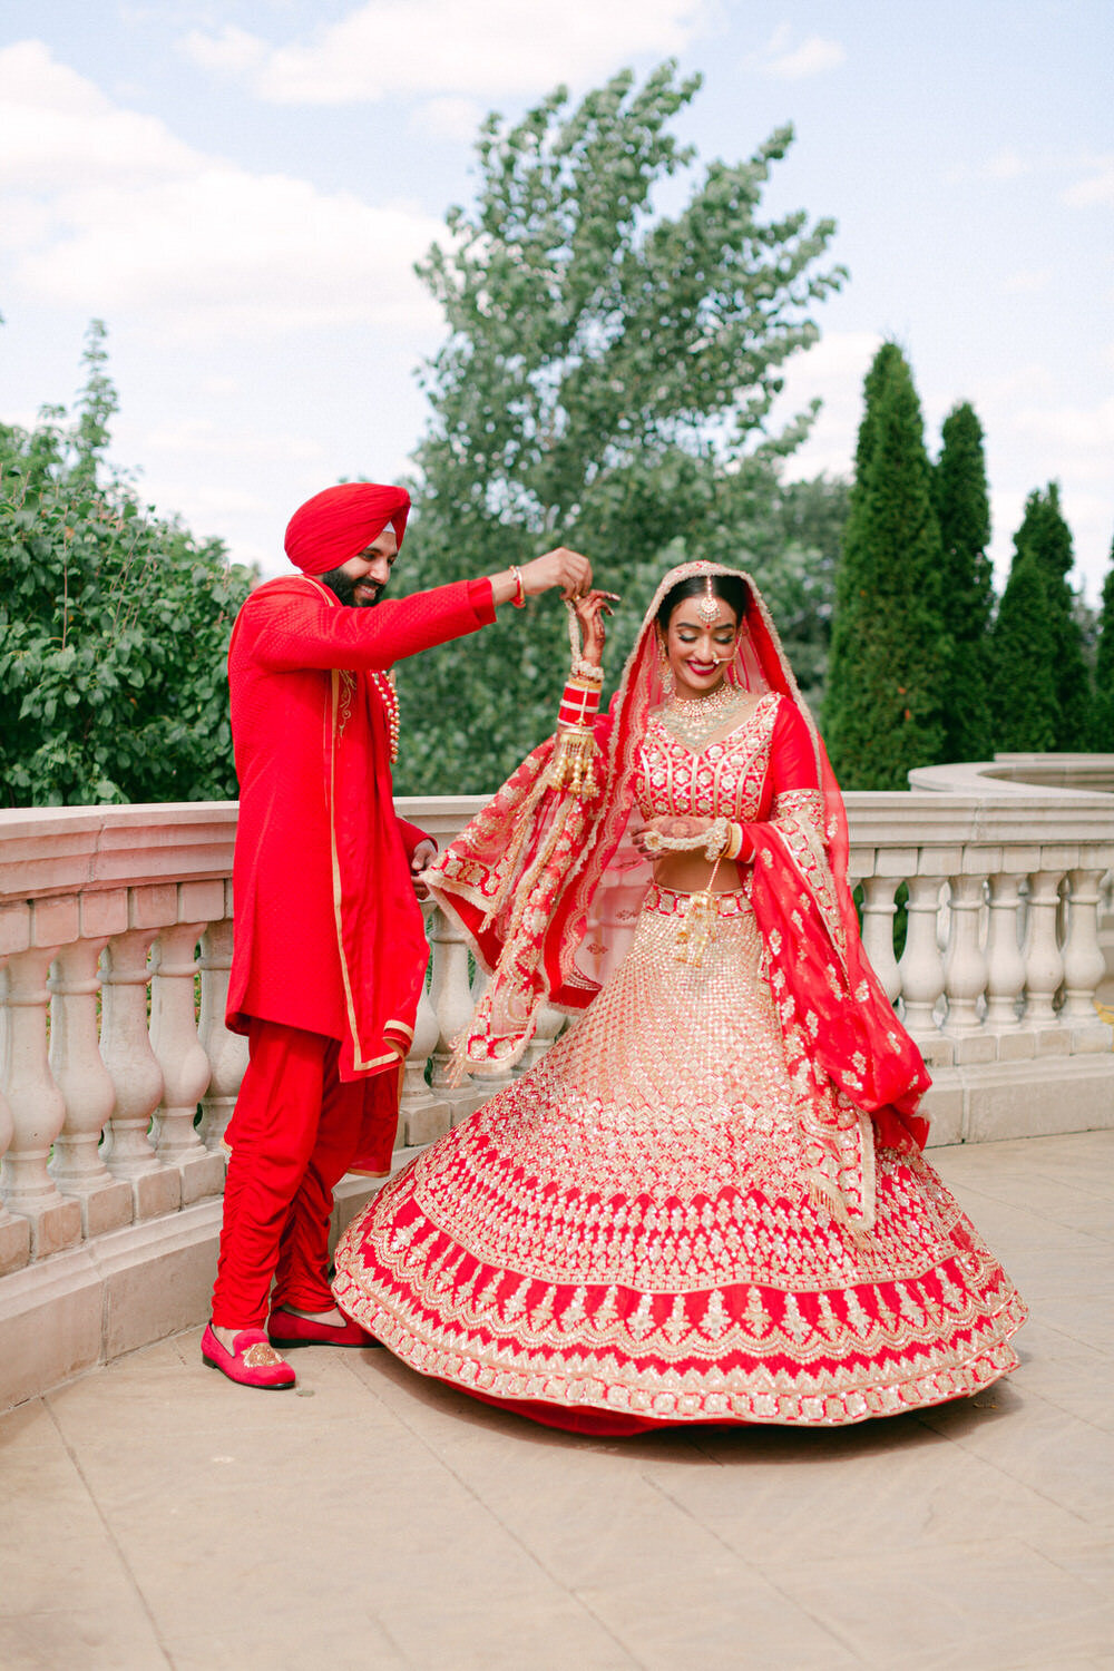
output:
[[1089,745],[1091,677],[1067,578],[1072,563],[1071,528],[1051,481],[1025,500],[994,625],[994,742],[1005,752]]

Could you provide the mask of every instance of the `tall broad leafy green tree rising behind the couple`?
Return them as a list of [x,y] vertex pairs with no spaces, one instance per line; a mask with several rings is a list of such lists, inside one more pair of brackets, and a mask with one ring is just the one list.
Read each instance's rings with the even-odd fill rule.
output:
[[[670,124],[698,85],[666,63],[575,109],[558,89],[514,125],[491,117],[474,206],[419,269],[449,334],[424,376],[411,575],[573,545],[625,595],[611,673],[666,561],[745,561],[775,513],[778,461],[810,419],[770,433],[780,373],[842,282],[820,267],[832,222],[760,216],[788,129],[658,207],[693,175]],[[399,787],[491,789],[553,725],[563,643],[541,600],[404,667]]]

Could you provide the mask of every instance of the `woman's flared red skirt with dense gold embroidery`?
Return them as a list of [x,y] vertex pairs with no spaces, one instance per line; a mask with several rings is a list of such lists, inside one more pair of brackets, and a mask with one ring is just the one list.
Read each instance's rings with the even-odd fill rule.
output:
[[862,1156],[870,1228],[810,1188],[743,892],[698,964],[651,887],[625,962],[529,1071],[347,1228],[341,1308],[538,1420],[832,1425],[1017,1367],[1017,1290],[919,1153]]

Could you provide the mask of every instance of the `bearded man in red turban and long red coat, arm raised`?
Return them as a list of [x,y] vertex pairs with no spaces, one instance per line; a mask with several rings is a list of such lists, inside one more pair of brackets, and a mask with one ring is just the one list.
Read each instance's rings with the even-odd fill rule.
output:
[[202,1357],[249,1387],[294,1385],[276,1345],[369,1342],[326,1280],[332,1190],[367,1111],[389,1155],[428,956],[413,879],[434,852],[394,814],[389,668],[488,625],[501,603],[591,587],[588,560],[560,548],[382,603],[408,513],[396,486],[317,493],[286,531],[301,575],[252,592],[229,647],[241,812],[227,1023],[251,1059]]

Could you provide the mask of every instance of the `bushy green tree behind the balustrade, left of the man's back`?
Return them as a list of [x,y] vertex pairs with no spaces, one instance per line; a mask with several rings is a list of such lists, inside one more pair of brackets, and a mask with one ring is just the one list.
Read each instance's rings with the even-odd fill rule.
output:
[[235,795],[224,658],[252,575],[105,463],[104,328],[70,419],[0,426],[0,782],[7,805]]

